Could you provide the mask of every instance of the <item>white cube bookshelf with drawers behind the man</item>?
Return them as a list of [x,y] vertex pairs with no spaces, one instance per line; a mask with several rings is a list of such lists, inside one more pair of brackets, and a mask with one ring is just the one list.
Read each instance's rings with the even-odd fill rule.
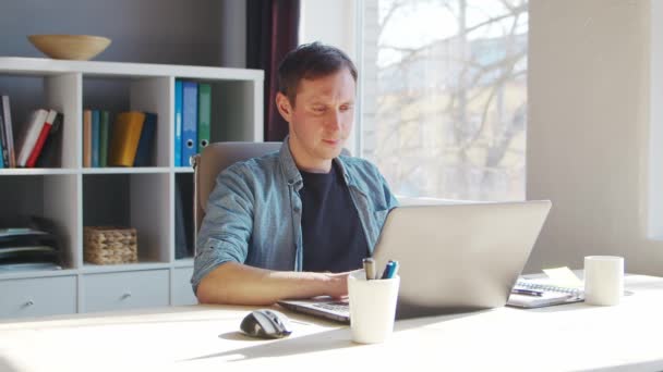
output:
[[[12,99],[14,135],[28,111],[64,114],[58,168],[0,169],[0,216],[40,215],[57,225],[64,269],[0,273],[0,319],[194,303],[193,259],[176,259],[176,183],[193,183],[174,166],[174,82],[212,85],[210,141],[263,140],[258,70],[119,62],[0,58],[0,92]],[[21,87],[41,97],[14,104]],[[112,87],[110,108],[93,97]],[[119,94],[118,94],[119,92]],[[14,108],[19,108],[17,110]],[[83,168],[83,109],[157,114],[154,163],[145,168]],[[184,208],[193,208],[184,200]],[[83,260],[83,226],[119,224],[138,232],[138,262],[97,265]]]

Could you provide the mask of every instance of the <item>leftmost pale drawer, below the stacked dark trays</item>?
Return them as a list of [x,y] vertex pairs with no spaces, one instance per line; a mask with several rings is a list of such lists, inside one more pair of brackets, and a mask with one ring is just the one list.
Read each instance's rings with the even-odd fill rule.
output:
[[49,276],[0,282],[1,318],[43,317],[75,312],[75,276]]

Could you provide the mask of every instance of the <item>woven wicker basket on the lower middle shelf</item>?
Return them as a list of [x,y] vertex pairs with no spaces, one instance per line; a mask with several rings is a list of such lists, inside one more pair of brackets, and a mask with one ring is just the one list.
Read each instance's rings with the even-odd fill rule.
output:
[[86,226],[83,230],[83,256],[96,264],[138,262],[138,241],[135,228]]

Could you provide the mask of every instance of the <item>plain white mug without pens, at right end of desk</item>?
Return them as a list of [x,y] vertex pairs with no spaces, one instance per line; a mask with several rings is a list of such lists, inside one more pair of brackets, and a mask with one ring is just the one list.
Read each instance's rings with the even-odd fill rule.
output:
[[624,258],[588,256],[584,258],[584,302],[596,306],[618,305],[624,294]]

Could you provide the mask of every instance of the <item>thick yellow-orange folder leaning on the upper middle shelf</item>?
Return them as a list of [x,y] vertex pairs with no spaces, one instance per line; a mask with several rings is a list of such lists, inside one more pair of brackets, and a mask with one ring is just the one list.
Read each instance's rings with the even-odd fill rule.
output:
[[112,126],[108,164],[112,166],[132,166],[138,148],[145,114],[138,111],[118,114]]

